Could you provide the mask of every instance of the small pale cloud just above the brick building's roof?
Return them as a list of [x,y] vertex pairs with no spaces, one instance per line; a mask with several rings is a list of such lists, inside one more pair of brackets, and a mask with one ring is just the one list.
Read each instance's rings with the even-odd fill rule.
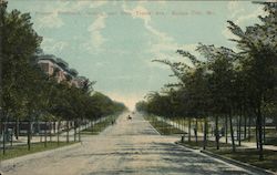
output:
[[66,49],[66,47],[69,47],[68,42],[55,41],[51,38],[43,38],[43,41],[41,43],[41,48],[47,53],[59,53]]

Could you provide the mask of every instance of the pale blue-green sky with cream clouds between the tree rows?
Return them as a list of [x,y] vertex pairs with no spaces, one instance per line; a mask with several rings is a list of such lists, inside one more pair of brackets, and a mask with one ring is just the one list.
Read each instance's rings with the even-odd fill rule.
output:
[[250,1],[9,0],[8,9],[30,12],[45,54],[62,58],[96,81],[95,91],[131,110],[148,92],[176,82],[152,60],[189,64],[176,50],[201,58],[199,42],[234,49],[226,21],[244,29],[264,14]]

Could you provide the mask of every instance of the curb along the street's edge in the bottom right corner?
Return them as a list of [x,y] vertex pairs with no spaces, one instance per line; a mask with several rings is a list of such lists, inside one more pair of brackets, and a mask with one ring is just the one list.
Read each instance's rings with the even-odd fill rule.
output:
[[229,158],[229,157],[217,155],[217,154],[214,154],[214,153],[208,152],[208,151],[201,150],[201,153],[204,153],[204,154],[206,154],[208,156],[212,156],[214,158],[218,158],[220,161],[227,162],[229,164],[239,166],[239,167],[245,168],[247,171],[250,171],[253,173],[264,174],[264,175],[276,175],[275,172],[271,172],[271,171],[268,171],[268,169],[264,169],[264,168],[260,168],[260,167],[257,167],[257,166],[253,166],[253,165],[249,165],[247,163],[243,163],[243,162]]

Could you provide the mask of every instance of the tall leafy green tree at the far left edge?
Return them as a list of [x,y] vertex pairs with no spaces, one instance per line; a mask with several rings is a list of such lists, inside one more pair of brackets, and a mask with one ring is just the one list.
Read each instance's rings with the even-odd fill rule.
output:
[[[20,80],[29,71],[32,55],[39,50],[42,38],[32,29],[29,13],[18,10],[7,11],[8,2],[0,2],[1,31],[1,120],[7,122],[12,112],[22,109],[25,104],[24,94],[19,87]],[[6,125],[2,127],[6,133]],[[4,137],[3,137],[4,138]],[[4,140],[3,140],[4,147]],[[4,148],[3,148],[4,153]]]

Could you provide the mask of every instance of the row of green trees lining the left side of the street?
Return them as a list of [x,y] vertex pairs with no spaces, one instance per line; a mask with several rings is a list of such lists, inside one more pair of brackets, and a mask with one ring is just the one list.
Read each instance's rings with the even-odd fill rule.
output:
[[[38,65],[42,53],[42,37],[32,28],[29,13],[7,11],[8,2],[0,2],[0,120],[1,133],[7,122],[29,122],[28,147],[31,146],[31,125],[34,121],[95,120],[125,110],[124,104],[93,92],[93,82],[86,80],[81,87],[58,83],[55,74],[48,75]],[[17,124],[18,125],[18,124]],[[69,126],[69,124],[68,124]],[[16,130],[17,134],[19,130]],[[68,130],[69,131],[69,130]],[[59,131],[58,131],[59,133]],[[58,136],[59,141],[59,136]],[[2,140],[3,153],[6,138]]]

